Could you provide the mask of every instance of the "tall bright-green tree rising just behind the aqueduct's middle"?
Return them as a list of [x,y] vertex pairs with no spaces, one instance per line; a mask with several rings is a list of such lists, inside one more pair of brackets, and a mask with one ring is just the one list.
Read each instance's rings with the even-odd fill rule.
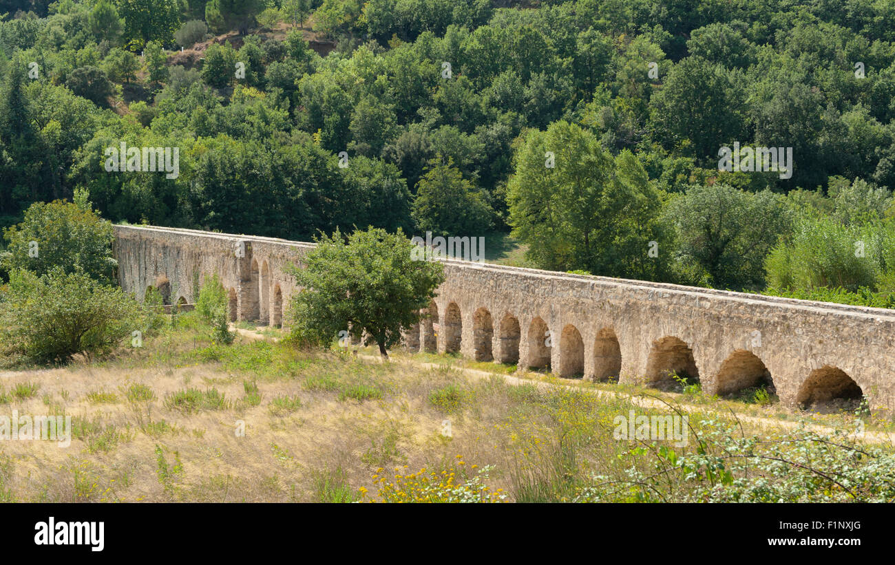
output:
[[[510,224],[542,268],[652,278],[650,241],[659,193],[639,160],[613,158],[590,132],[568,122],[530,131],[507,186]],[[660,256],[661,257],[661,256]]]

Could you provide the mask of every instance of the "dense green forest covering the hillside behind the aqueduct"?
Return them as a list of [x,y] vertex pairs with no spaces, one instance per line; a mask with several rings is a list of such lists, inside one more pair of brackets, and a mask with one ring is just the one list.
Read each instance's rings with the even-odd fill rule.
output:
[[[2,13],[3,226],[77,190],[116,222],[512,230],[542,268],[895,305],[890,0]],[[123,143],[175,148],[176,172],[110,171]],[[722,148],[791,161],[720,170]]]

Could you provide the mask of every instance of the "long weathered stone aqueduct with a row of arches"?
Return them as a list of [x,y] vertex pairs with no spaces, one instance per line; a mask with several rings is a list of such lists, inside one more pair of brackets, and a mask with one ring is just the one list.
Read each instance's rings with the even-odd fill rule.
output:
[[[217,274],[232,319],[280,325],[296,291],[286,266],[311,244],[147,226],[115,226],[125,291],[166,285],[192,302]],[[772,384],[781,403],[863,394],[895,413],[895,312],[655,282],[445,261],[412,350],[550,367],[560,376],[661,386],[671,372],[710,394]]]

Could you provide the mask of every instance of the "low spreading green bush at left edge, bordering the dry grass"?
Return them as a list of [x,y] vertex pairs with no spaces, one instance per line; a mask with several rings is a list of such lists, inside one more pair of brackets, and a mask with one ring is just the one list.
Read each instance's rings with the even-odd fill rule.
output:
[[59,267],[13,271],[0,301],[0,345],[41,363],[106,355],[143,327],[143,309],[121,289]]

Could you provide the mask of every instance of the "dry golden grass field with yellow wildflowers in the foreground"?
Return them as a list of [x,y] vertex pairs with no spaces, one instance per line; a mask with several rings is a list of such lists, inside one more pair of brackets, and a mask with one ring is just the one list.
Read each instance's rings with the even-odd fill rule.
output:
[[[68,447],[0,442],[0,500],[700,500],[715,496],[716,481],[698,458],[734,449],[723,438],[806,434],[783,420],[777,428],[707,402],[703,409],[695,394],[652,392],[655,403],[644,407],[635,390],[593,394],[599,387],[555,386],[558,379],[533,374],[508,383],[501,374],[510,367],[495,364],[401,353],[380,363],[245,333],[214,345],[198,316],[181,314],[141,348],[103,362],[0,373],[0,415],[72,417]],[[677,414],[680,402],[692,426],[686,446],[614,437],[618,415]],[[793,458],[803,455],[816,460],[808,451]],[[678,464],[686,458],[695,465],[689,473]],[[736,467],[727,469],[736,480]],[[784,471],[763,472],[790,480]],[[843,488],[833,485],[830,497],[856,487]]]

